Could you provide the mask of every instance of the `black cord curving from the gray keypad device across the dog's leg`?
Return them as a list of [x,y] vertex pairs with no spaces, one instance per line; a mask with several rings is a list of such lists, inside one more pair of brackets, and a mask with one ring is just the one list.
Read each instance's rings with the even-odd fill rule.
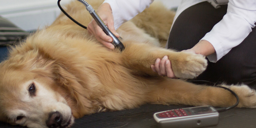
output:
[[[206,81],[206,80],[188,80],[188,82],[208,82],[208,83],[214,84],[213,82]],[[232,106],[230,106],[230,107],[227,107],[227,108],[226,108],[226,107],[223,107],[223,108],[216,108],[216,110],[217,110],[218,112],[225,112],[226,110],[229,110],[229,109],[232,109],[232,108],[235,108],[236,106],[238,106],[238,104],[239,104],[239,98],[238,98],[237,94],[236,94],[234,91],[232,91],[232,90],[229,89],[229,88],[223,87],[223,86],[214,86],[214,87],[224,88],[224,89],[230,91],[230,92],[236,97],[236,104],[234,104],[234,105],[232,105]]]

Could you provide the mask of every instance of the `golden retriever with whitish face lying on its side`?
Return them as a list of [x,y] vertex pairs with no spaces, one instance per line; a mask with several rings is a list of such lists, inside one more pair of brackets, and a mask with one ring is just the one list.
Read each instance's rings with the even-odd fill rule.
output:
[[[96,10],[103,0],[87,0]],[[80,2],[66,6],[78,22],[92,17]],[[158,14],[156,14],[158,13]],[[64,14],[10,48],[0,64],[0,121],[29,128],[68,128],[75,118],[124,110],[142,104],[232,106],[227,90],[159,76],[150,68],[168,56],[178,78],[194,78],[207,66],[198,54],[160,48],[174,12],[152,4],[117,32],[125,49],[109,50]],[[246,85],[227,86],[240,98],[238,107],[256,107],[256,93]]]

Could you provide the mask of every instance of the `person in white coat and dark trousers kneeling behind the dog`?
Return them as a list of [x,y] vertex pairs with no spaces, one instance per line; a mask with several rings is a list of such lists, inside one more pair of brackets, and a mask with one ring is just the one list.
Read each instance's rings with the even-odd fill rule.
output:
[[[116,29],[154,0],[105,0],[98,14],[117,36]],[[196,80],[255,84],[256,0],[182,0],[166,48],[202,54],[208,67]],[[110,49],[114,46],[94,20],[88,31]],[[151,66],[161,76],[176,78],[168,58]]]

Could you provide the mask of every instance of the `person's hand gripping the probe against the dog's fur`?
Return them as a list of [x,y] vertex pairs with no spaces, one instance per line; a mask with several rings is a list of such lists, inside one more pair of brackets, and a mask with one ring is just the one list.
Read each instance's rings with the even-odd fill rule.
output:
[[[99,6],[97,10],[98,15],[103,20],[103,22],[108,26],[108,29],[119,38],[119,34],[116,32],[114,28],[114,17],[112,15],[112,9],[108,3],[103,3]],[[96,39],[102,43],[104,46],[110,49],[114,49],[114,45],[111,44],[112,38],[105,34],[105,32],[98,26],[97,22],[92,19],[92,21],[88,24],[87,30],[89,34],[92,34],[96,37]]]

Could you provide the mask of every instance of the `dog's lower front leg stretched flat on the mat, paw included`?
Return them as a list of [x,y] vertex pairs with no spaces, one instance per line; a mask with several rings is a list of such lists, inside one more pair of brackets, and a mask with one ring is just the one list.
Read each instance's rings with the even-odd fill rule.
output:
[[[225,86],[225,85],[222,85]],[[248,86],[226,86],[240,98],[238,107],[256,107],[255,90]],[[202,86],[177,79],[165,79],[157,83],[147,94],[148,102],[158,104],[186,104],[192,106],[212,105],[227,107],[236,103],[228,90],[214,86]]]

